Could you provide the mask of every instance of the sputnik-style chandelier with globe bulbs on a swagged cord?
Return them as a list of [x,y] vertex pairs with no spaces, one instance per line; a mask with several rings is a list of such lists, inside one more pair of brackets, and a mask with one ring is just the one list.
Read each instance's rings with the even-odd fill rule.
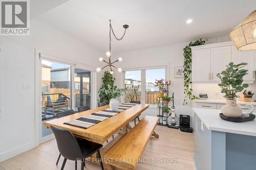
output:
[[128,28],[129,26],[128,25],[123,25],[123,28],[124,28],[124,33],[122,35],[121,38],[117,38],[117,36],[115,35],[114,31],[113,31],[113,28],[112,28],[112,25],[111,25],[111,20],[110,20],[110,51],[106,52],[106,57],[108,57],[108,60],[104,60],[102,57],[99,58],[99,61],[102,61],[102,62],[105,62],[107,65],[105,65],[104,67],[98,67],[96,70],[99,72],[100,70],[104,69],[105,67],[110,67],[110,74],[114,74],[114,68],[117,69],[119,72],[122,71],[122,68],[119,68],[119,67],[116,67],[114,66],[113,64],[118,62],[118,61],[122,61],[122,58],[119,57],[117,60],[115,60],[114,62],[111,61],[111,32],[113,33],[114,37],[120,41],[123,39],[124,35],[125,35],[125,32],[126,32],[126,29]]

